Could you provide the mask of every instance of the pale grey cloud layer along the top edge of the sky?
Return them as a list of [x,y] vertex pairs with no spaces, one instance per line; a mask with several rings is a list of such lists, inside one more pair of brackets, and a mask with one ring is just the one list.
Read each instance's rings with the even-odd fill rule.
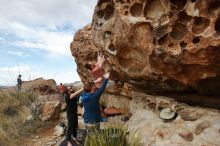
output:
[[[49,27],[91,22],[97,0],[0,0],[0,20]],[[10,23],[7,23],[10,24]]]

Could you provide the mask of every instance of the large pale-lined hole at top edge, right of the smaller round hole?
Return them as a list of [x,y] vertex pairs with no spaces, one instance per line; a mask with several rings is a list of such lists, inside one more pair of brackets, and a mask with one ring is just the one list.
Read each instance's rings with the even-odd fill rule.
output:
[[147,1],[144,8],[144,16],[159,19],[164,13],[163,6],[160,0],[149,0]]

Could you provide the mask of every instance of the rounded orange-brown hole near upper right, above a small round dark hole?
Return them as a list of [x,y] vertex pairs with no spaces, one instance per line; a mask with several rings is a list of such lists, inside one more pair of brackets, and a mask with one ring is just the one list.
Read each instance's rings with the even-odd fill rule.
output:
[[200,34],[204,32],[204,30],[209,26],[210,21],[203,17],[195,17],[194,25],[192,27],[192,31],[196,34]]

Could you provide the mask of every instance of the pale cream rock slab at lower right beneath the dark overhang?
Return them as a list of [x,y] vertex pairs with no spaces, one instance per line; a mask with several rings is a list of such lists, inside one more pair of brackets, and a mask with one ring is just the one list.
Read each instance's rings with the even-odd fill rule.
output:
[[[133,92],[130,103],[129,130],[136,130],[146,146],[187,146],[220,144],[220,112],[201,107],[191,107],[162,96]],[[160,110],[176,105],[175,120],[164,121]]]

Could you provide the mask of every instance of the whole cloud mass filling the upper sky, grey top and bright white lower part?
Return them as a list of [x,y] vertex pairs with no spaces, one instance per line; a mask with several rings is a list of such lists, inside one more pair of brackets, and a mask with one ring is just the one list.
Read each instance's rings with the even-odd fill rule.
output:
[[[97,0],[0,0],[0,37],[9,37],[2,43],[42,49],[53,55],[70,54],[74,31],[91,23],[96,3]],[[62,28],[68,25],[67,33]]]

